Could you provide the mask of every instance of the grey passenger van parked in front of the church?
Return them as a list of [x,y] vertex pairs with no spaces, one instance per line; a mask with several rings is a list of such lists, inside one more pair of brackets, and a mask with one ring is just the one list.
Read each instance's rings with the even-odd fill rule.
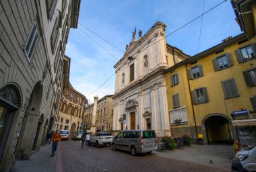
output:
[[112,140],[112,150],[120,149],[136,153],[151,153],[156,150],[156,133],[154,130],[123,130]]

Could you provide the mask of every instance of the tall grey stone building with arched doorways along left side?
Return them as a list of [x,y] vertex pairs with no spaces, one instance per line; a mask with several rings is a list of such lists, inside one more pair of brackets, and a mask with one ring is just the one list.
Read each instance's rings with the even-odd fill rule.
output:
[[[79,0],[0,2],[0,171],[44,144]],[[55,102],[55,105],[53,105]]]

